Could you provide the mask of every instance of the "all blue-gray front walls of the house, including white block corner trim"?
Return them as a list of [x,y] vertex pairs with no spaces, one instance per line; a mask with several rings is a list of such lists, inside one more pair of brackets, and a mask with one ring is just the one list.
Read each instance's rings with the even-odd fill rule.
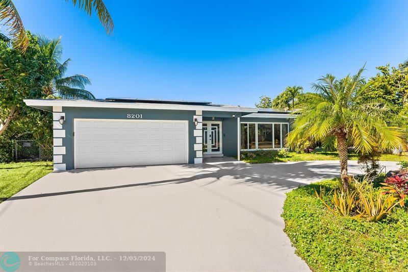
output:
[[[202,152],[200,144],[201,135],[199,131],[196,131],[196,136],[194,136],[194,130],[201,130],[201,123],[197,126],[194,125],[194,118],[200,120],[200,113],[197,114],[196,111],[185,111],[185,110],[154,110],[154,109],[114,109],[114,108],[77,108],[77,107],[63,107],[62,113],[57,113],[54,116],[54,152],[57,155],[58,163],[54,164],[58,167],[67,170],[74,168],[74,119],[123,119],[128,120],[127,114],[142,114],[143,120],[187,120],[188,121],[188,134],[189,134],[189,163],[200,163],[202,161]],[[59,114],[65,115],[65,122],[62,126],[58,124]],[[235,115],[235,117],[233,117]],[[240,117],[240,122],[290,122],[290,119],[286,118],[254,118],[254,117],[241,117],[240,113],[233,112],[217,112],[217,111],[203,111],[202,120],[210,121],[214,120],[222,121],[222,153],[225,156],[237,156],[238,155],[238,117]],[[60,131],[58,131],[58,129]],[[65,134],[62,136],[59,133],[64,131]],[[57,134],[56,134],[57,133]],[[58,138],[58,139],[56,139]],[[61,144],[62,140],[62,144]],[[198,141],[200,140],[200,141]],[[59,144],[56,144],[58,143]],[[60,146],[62,145],[62,146]],[[194,145],[195,148],[194,148]],[[198,149],[199,147],[199,149]],[[65,150],[65,152],[64,152]],[[60,152],[60,153],[58,153]],[[60,155],[61,154],[61,155]],[[61,160],[62,157],[62,161]],[[56,156],[54,158],[56,162]],[[56,168],[55,168],[56,169]],[[58,170],[59,168],[57,168]]]

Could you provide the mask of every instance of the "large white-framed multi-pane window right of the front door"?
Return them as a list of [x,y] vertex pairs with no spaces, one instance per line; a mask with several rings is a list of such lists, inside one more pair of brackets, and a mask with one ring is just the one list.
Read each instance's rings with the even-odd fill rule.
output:
[[288,123],[241,123],[241,150],[282,149]]

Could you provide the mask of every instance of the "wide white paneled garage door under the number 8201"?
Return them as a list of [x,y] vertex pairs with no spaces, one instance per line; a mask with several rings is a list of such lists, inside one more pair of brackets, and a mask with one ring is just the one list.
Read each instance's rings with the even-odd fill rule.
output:
[[75,119],[75,168],[188,163],[187,121]]

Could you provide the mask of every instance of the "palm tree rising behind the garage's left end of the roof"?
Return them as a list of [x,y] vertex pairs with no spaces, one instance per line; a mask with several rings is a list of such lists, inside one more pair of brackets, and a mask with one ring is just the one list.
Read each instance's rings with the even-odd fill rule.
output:
[[44,52],[48,53],[50,60],[57,62],[57,75],[43,87],[46,98],[95,99],[90,91],[85,90],[85,85],[91,84],[88,77],[84,75],[64,77],[71,59],[60,63],[62,56],[61,37],[50,40],[40,36],[39,45]]

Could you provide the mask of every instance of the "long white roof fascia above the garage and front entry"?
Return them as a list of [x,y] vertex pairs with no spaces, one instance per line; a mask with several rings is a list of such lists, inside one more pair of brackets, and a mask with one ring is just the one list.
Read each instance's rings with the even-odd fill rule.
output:
[[115,108],[115,109],[158,109],[158,110],[203,110],[203,111],[231,111],[258,112],[257,108],[234,106],[203,106],[155,103],[122,103],[85,100],[36,100],[25,99],[24,103],[32,107],[84,107],[84,108]]

